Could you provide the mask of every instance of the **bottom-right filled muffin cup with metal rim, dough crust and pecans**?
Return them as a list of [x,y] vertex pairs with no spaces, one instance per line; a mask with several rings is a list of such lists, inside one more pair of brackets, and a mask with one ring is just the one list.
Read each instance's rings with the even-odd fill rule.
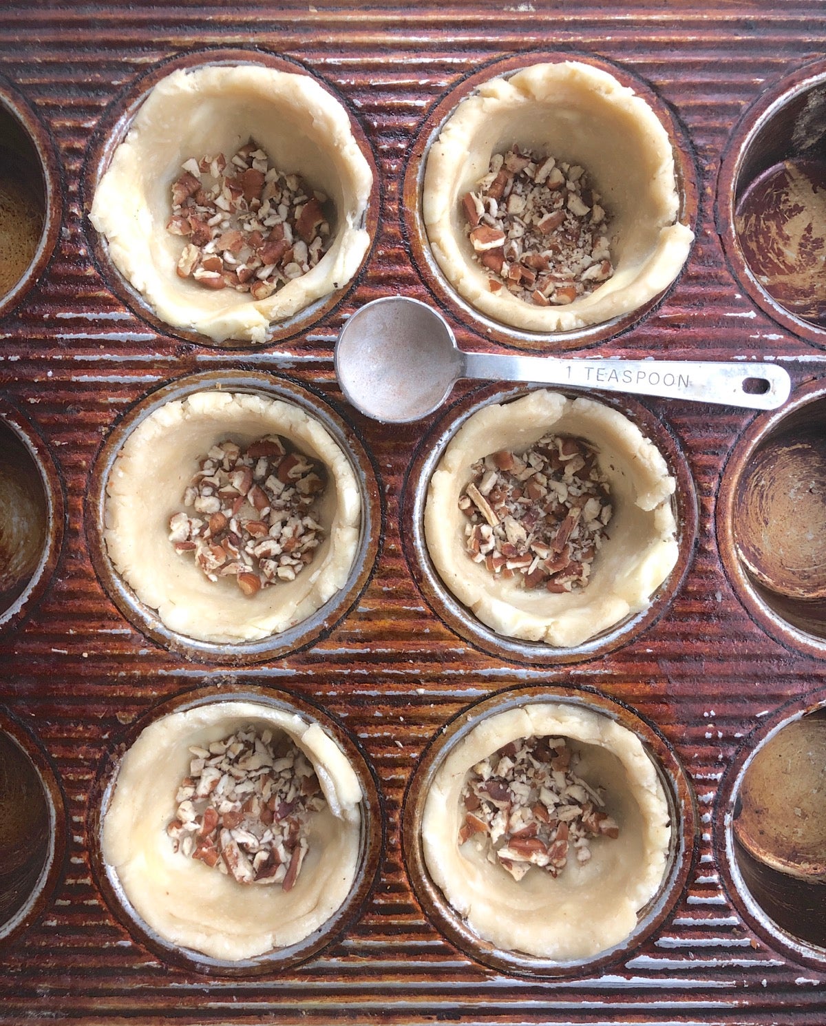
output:
[[664,768],[652,735],[561,688],[506,692],[449,723],[417,768],[403,825],[437,928],[478,960],[536,975],[590,970],[639,943],[684,882],[695,821],[684,775],[670,754]]

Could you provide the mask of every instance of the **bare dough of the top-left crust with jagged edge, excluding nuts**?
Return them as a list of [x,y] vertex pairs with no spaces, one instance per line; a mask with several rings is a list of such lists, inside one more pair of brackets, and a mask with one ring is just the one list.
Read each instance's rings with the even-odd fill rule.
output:
[[[210,291],[175,273],[187,240],[166,231],[169,189],[190,157],[227,158],[250,139],[279,171],[299,173],[332,200],[335,242],[315,268],[254,302],[233,288]],[[372,172],[342,105],[307,75],[254,65],[179,70],[135,115],[94,193],[90,220],[118,270],[174,327],[215,342],[266,341],[284,320],[355,275],[369,236],[364,214]]]

